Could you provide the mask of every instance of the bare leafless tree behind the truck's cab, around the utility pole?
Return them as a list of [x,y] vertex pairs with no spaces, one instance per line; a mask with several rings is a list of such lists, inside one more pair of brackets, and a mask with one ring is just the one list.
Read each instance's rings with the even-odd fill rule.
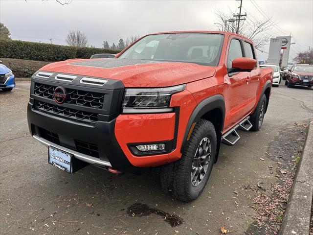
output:
[[[235,19],[233,19],[233,13],[229,9],[228,12],[224,12],[220,9],[216,9],[215,12],[217,19],[216,23],[220,31],[226,32],[236,32],[237,24]],[[241,20],[239,25],[239,34],[245,36],[246,38],[253,41],[254,46],[260,49],[268,44],[269,36],[264,34],[267,30],[271,29],[273,26],[273,21],[271,18],[259,20],[256,18],[247,20]]]

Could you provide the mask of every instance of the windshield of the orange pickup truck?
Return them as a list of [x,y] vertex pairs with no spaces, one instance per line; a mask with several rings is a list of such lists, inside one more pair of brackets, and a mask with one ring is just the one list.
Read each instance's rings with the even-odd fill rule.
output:
[[119,58],[177,61],[217,66],[223,45],[222,34],[170,33],[148,35]]

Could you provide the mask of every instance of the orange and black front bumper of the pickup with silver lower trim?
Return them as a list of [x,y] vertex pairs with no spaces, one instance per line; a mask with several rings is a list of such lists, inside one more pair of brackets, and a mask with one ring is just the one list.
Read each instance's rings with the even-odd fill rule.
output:
[[[152,167],[172,162],[180,157],[176,148],[175,130],[178,128],[178,113],[119,115],[111,121],[97,121],[95,125],[79,123],[42,113],[32,108],[32,99],[27,107],[28,126],[31,135],[46,146],[54,146],[71,153],[75,158],[102,167],[120,171],[138,172],[138,167]],[[57,137],[46,136],[45,132]],[[47,138],[48,137],[48,138]],[[98,157],[81,152],[76,141],[97,146]],[[168,153],[138,156],[132,152],[130,143],[167,142]],[[174,151],[176,150],[176,151]]]

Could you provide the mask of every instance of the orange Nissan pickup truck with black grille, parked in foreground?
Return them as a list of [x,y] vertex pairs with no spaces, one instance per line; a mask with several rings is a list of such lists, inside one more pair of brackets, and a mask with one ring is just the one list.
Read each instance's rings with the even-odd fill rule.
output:
[[69,173],[94,164],[112,173],[160,168],[182,201],[205,187],[221,143],[260,129],[272,69],[253,43],[216,31],[146,35],[113,59],[48,64],[31,79],[29,131],[48,163]]

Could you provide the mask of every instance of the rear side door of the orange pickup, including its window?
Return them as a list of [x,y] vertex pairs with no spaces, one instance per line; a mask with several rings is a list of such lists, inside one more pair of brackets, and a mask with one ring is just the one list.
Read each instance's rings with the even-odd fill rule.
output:
[[[246,57],[256,59],[255,50],[252,44],[248,42],[244,42],[245,49],[246,49]],[[260,78],[261,78],[261,71],[258,67],[258,64],[254,67],[254,69],[250,72],[250,89],[249,89],[249,107],[252,109],[257,102],[257,93],[260,86]]]

